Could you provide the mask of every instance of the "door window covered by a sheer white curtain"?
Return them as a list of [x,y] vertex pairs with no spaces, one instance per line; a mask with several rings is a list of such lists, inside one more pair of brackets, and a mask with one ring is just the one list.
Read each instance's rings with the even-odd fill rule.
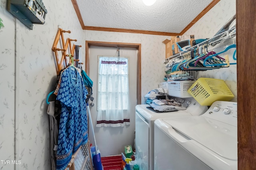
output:
[[98,110],[127,110],[128,58],[98,57]]

